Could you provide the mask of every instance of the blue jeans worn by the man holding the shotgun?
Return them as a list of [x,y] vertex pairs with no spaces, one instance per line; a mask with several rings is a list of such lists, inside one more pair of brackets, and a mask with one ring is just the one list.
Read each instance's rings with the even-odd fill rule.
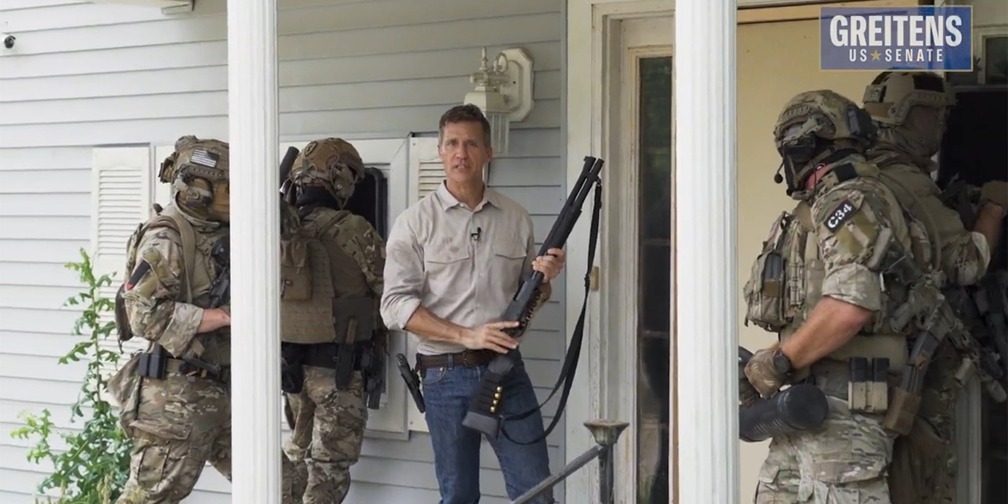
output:
[[[483,434],[463,426],[469,402],[479,388],[487,367],[450,366],[428,368],[423,373],[425,417],[434,451],[434,472],[440,489],[440,504],[477,504],[480,502],[480,442]],[[520,362],[501,382],[504,387],[502,412],[505,416],[523,413],[538,405],[532,382]],[[542,435],[539,411],[520,420],[504,422],[508,435],[528,443]],[[504,484],[511,500],[549,477],[546,440],[534,445],[512,443],[503,433],[489,439],[497,455]],[[551,491],[542,494],[535,504],[552,504]]]

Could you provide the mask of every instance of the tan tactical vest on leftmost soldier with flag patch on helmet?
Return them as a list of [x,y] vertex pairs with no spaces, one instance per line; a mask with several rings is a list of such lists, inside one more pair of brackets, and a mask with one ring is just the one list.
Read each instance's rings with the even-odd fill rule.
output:
[[[211,271],[210,257],[216,236],[207,236],[196,233],[193,225],[181,215],[176,207],[169,205],[161,209],[155,206],[157,215],[144,223],[137,225],[126,242],[126,266],[123,269],[123,283],[119,286],[115,298],[116,327],[120,341],[129,341],[133,338],[130,329],[129,319],[123,302],[123,292],[126,287],[126,279],[130,277],[136,268],[137,251],[143,235],[155,228],[169,228],[178,233],[182,243],[182,261],[184,270],[182,275],[182,285],[176,301],[187,302],[197,306],[206,307],[210,304],[210,289],[214,279],[214,272]],[[227,333],[229,328],[219,330],[220,333]],[[215,338],[219,332],[198,335],[194,345],[194,356],[206,359],[214,364],[227,365],[231,361],[231,349],[228,346],[227,338]]]

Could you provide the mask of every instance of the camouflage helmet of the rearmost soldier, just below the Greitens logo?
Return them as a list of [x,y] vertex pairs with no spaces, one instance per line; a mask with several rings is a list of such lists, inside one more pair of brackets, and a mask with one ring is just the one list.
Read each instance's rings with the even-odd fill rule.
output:
[[883,72],[865,87],[865,110],[882,126],[899,126],[914,106],[944,112],[956,105],[952,85],[937,74],[921,72]]

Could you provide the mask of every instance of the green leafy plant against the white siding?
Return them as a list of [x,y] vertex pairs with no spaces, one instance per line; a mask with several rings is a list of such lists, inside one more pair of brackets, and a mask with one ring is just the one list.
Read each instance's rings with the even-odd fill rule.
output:
[[[74,422],[85,418],[84,427],[80,432],[60,432],[67,449],[58,453],[49,444],[55,424],[47,409],[39,414],[22,413],[24,425],[11,432],[12,437],[38,438],[28,450],[29,462],[38,464],[43,459],[51,462],[53,472],[37,488],[39,493],[59,490],[58,500],[44,501],[48,504],[108,504],[119,497],[129,476],[131,442],[119,426],[117,412],[101,395],[106,385],[103,368],[116,365],[121,355],[101,345],[116,327],[113,322],[102,322],[103,313],[115,306],[111,299],[100,295],[102,287],[112,284],[112,277],[107,274],[96,277],[91,257],[83,249],[81,257],[80,262],[66,266],[78,272],[86,289],[67,299],[65,305],[82,307],[73,334],[85,339],[60,357],[59,364],[88,361],[81,394],[71,406],[70,419]],[[85,416],[85,408],[90,409],[90,417]]]

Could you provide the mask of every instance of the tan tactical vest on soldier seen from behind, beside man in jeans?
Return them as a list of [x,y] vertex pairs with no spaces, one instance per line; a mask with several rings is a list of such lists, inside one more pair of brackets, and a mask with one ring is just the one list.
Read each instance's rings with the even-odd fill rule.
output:
[[280,340],[353,345],[378,329],[378,301],[335,239],[346,211],[316,210],[280,240]]

